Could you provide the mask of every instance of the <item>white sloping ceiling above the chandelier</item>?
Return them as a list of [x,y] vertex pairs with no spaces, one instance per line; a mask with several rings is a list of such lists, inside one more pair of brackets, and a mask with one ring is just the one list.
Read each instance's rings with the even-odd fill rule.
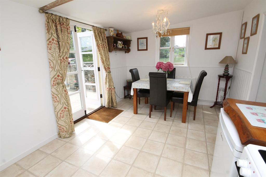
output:
[[[54,0],[14,0],[32,7],[42,7]],[[168,10],[171,24],[241,10],[251,0],[182,1],[90,1],[74,0],[52,8],[66,16],[89,21],[102,27],[114,27],[124,33],[152,28],[157,10]],[[230,19],[228,19],[230,20]]]

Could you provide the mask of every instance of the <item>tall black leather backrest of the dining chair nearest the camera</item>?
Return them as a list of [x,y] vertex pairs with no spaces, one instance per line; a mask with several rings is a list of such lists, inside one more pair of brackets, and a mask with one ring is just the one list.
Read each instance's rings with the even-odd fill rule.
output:
[[166,73],[150,72],[150,105],[167,106],[167,81]]

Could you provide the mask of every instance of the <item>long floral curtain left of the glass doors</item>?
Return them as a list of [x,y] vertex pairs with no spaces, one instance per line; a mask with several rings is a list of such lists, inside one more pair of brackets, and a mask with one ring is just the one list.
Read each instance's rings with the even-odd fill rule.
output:
[[46,40],[50,67],[52,101],[58,136],[67,138],[75,131],[68,91],[64,83],[70,49],[69,19],[45,14]]

